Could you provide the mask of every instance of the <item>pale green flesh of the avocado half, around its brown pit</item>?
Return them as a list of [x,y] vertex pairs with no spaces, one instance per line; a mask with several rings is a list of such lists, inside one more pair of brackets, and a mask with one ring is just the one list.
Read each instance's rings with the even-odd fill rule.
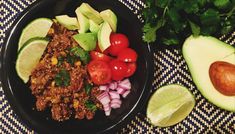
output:
[[183,44],[183,56],[201,94],[214,105],[235,111],[235,96],[217,91],[209,77],[210,65],[215,61],[235,64],[235,47],[211,36],[190,36]]

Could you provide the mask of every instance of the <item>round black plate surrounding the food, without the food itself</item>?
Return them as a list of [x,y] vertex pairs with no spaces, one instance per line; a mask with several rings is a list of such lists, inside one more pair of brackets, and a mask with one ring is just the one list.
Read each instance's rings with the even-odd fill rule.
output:
[[118,32],[124,33],[130,45],[138,53],[137,71],[133,77],[132,92],[123,101],[122,107],[112,110],[111,116],[97,112],[94,119],[74,120],[59,123],[51,119],[50,111],[33,110],[35,98],[28,85],[17,76],[15,62],[17,44],[22,29],[32,20],[39,17],[54,18],[56,15],[75,15],[75,9],[82,0],[42,0],[34,3],[13,24],[6,37],[1,54],[1,79],[3,90],[14,111],[31,128],[43,133],[102,133],[115,130],[141,110],[148,99],[153,78],[153,59],[149,45],[142,42],[141,23],[127,7],[115,0],[86,0],[98,11],[113,10],[118,16]]

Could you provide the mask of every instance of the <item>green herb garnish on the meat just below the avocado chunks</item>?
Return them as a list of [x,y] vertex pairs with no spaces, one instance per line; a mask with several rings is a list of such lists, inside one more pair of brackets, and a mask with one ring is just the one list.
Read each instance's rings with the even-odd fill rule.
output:
[[90,61],[90,55],[88,51],[85,51],[84,49],[80,47],[73,47],[70,50],[70,53],[73,55],[77,56],[80,58],[80,60],[84,63],[87,64]]

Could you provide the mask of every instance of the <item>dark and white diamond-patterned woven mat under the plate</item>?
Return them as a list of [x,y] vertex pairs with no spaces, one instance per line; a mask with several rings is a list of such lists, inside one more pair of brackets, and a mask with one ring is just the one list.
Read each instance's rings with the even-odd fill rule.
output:
[[[0,1],[0,46],[6,32],[17,16],[35,0]],[[144,7],[141,0],[119,0],[142,20],[140,10]],[[235,32],[222,36],[221,40],[235,45]],[[196,106],[181,123],[167,128],[150,125],[144,112],[138,113],[118,133],[235,133],[235,113],[221,110],[209,103],[196,89],[188,72],[182,54],[175,49],[157,50],[154,53],[154,81],[151,92],[160,86],[178,83],[191,90],[196,98]],[[0,87],[0,133],[35,133],[27,127],[12,111]]]

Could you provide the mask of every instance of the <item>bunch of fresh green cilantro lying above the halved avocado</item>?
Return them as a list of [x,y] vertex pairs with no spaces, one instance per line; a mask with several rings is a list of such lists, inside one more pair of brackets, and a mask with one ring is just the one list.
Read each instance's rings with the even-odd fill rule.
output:
[[193,34],[218,36],[235,27],[235,0],[146,0],[143,40],[178,45]]

